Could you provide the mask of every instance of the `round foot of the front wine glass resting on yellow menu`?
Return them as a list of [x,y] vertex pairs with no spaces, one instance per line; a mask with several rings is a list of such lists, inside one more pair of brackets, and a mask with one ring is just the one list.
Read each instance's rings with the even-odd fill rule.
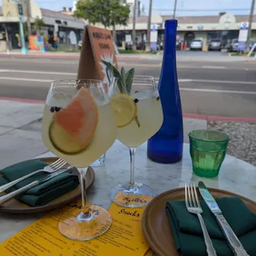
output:
[[91,216],[85,218],[81,210],[71,212],[59,220],[59,232],[68,239],[87,241],[104,234],[111,226],[110,213],[100,206],[86,206]]

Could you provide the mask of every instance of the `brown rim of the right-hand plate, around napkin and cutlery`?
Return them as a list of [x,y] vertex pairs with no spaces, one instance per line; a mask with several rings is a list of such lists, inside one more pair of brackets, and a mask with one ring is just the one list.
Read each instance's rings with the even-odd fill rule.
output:
[[[250,203],[254,204],[254,206],[256,206],[256,201],[253,201],[244,196],[240,196],[239,194],[236,194],[234,192],[229,192],[224,189],[220,189],[220,188],[216,188],[216,187],[207,187],[207,188],[210,192],[225,192],[225,194],[227,194],[227,195],[230,195],[232,197],[239,197],[245,201],[249,201]],[[150,239],[149,232],[147,231],[146,215],[149,212],[150,208],[154,205],[154,202],[159,199],[159,197],[165,197],[165,195],[167,195],[170,192],[178,192],[178,191],[181,191],[184,189],[185,189],[184,187],[178,187],[178,188],[173,188],[166,192],[160,193],[157,197],[154,197],[151,201],[149,201],[148,206],[146,206],[145,211],[143,211],[143,215],[142,215],[142,219],[141,219],[141,227],[143,230],[143,234],[145,235],[145,239],[146,239],[147,243],[149,244],[149,247],[154,251],[155,254],[157,254],[159,256],[161,256],[163,254],[161,254],[158,247],[154,246],[154,242],[152,243],[152,239]]]

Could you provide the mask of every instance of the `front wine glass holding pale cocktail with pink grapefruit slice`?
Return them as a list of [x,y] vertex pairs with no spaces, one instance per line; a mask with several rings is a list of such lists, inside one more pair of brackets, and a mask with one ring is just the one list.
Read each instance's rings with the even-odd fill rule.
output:
[[82,208],[64,212],[59,231],[73,240],[105,233],[111,216],[99,206],[86,205],[83,169],[116,140],[116,125],[107,92],[98,80],[59,80],[50,85],[45,102],[42,139],[60,159],[78,168]]

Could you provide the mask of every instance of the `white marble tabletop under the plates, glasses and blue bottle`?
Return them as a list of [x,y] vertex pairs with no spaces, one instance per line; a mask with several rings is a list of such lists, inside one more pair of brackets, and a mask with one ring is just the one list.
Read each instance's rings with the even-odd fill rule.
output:
[[[154,188],[156,195],[161,192],[183,187],[184,183],[202,180],[208,187],[217,187],[239,193],[256,201],[256,167],[242,160],[226,155],[217,178],[201,178],[192,173],[189,145],[184,144],[183,161],[178,164],[157,164],[146,157],[146,144],[141,145],[135,157],[135,180]],[[50,156],[51,153],[44,154]],[[116,141],[107,151],[106,162],[94,167],[96,180],[88,192],[88,201],[108,208],[111,205],[109,192],[118,183],[130,178],[130,156],[126,146]],[[41,214],[15,215],[0,212],[0,242],[38,219]]]

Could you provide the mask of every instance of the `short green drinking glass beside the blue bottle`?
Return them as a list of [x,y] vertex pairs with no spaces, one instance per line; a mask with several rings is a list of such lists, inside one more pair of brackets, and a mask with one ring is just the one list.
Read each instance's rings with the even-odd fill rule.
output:
[[220,172],[230,135],[218,130],[192,130],[189,134],[193,172],[212,178]]

